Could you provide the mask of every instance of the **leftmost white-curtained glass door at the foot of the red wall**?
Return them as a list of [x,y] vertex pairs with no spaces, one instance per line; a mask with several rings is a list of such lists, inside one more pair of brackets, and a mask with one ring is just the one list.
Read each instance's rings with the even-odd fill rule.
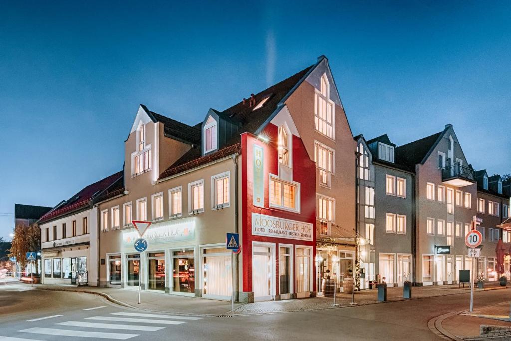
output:
[[254,300],[273,297],[273,246],[254,244],[252,249],[252,290]]

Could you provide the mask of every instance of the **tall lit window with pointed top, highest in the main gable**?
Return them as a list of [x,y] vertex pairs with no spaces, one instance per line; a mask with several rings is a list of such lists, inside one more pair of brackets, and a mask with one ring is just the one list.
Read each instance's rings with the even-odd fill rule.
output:
[[335,107],[330,100],[330,84],[327,75],[321,76],[320,91],[314,96],[314,125],[316,130],[331,139],[334,133]]

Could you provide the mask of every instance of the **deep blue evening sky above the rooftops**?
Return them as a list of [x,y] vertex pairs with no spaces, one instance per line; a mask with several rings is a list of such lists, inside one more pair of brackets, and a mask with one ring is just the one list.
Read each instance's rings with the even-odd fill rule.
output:
[[[138,105],[188,124],[326,55],[353,134],[454,126],[511,171],[511,3],[0,0],[0,236],[122,169]],[[8,238],[9,239],[9,238]]]

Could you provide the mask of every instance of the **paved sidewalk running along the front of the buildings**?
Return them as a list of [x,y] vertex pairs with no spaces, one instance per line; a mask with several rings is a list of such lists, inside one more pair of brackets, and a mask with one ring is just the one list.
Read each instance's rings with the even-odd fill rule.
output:
[[[171,295],[159,292],[142,291],[141,304],[138,304],[138,291],[133,289],[118,289],[106,287],[84,286],[77,287],[74,285],[43,285],[36,284],[37,289],[44,290],[64,290],[64,291],[81,291],[96,293],[105,296],[109,301],[134,307],[138,309],[146,309],[153,311],[165,311],[181,314],[210,314],[210,315],[250,315],[264,314],[276,312],[306,311],[318,309],[333,308],[333,298],[308,298],[297,300],[283,301],[265,301],[255,303],[235,303],[234,311],[231,311],[230,301],[220,301],[211,299],[202,299],[195,297],[187,297],[181,295]],[[504,287],[491,284],[486,289],[500,289]],[[440,286],[424,286],[412,288],[412,299],[427,298],[450,294],[467,293],[467,289],[459,289],[457,284],[440,285]],[[377,301],[377,290],[361,290],[355,292],[355,303],[357,305],[384,303]],[[392,287],[387,288],[387,302],[403,301],[403,288]],[[336,303],[340,307],[351,306],[351,294],[337,294]]]

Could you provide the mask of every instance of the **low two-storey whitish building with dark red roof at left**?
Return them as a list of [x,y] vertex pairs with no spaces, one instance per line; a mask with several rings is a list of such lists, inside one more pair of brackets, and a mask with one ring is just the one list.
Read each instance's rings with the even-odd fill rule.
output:
[[118,172],[88,185],[37,221],[43,284],[98,285],[96,198],[122,180]]

